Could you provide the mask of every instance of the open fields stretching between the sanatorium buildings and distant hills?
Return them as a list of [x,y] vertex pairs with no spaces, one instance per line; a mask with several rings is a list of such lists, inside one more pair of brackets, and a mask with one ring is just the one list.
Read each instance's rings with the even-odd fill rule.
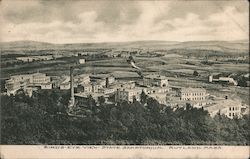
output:
[[[246,60],[243,62],[232,60],[238,56],[247,56],[246,59],[249,59],[245,43],[242,45],[236,43],[234,49],[231,48],[234,44],[226,42],[219,43],[220,47],[215,47],[215,42],[208,43],[207,45],[202,43],[203,46],[199,49],[206,48],[206,50],[203,49],[200,51],[197,49],[199,43],[193,45],[191,43],[184,43],[183,46],[180,43],[170,43],[169,45],[165,45],[165,50],[162,42],[159,44],[161,47],[158,48],[156,47],[156,43],[152,43],[152,46],[150,46],[150,43],[143,45],[142,42],[137,42],[126,43],[126,46],[125,44],[89,44],[84,45],[84,49],[81,48],[80,44],[64,45],[63,49],[60,49],[61,45],[49,45],[47,43],[39,45],[39,47],[46,46],[44,49],[39,49],[39,47],[36,47],[36,49],[25,49],[25,47],[18,49],[21,44],[14,45],[13,43],[13,46],[16,46],[15,49],[5,49],[1,53],[1,79],[7,79],[10,75],[38,71],[50,76],[69,75],[69,69],[72,66],[76,68],[75,74],[111,73],[119,79],[139,78],[139,75],[136,73],[137,70],[127,62],[128,57],[110,57],[112,56],[111,46],[116,51],[122,51],[124,49],[127,50],[128,46],[135,46],[135,44],[143,46],[141,48],[134,47],[140,48],[139,50],[145,50],[146,46],[150,47],[146,49],[149,52],[146,51],[145,53],[140,53],[140,55],[133,56],[135,65],[141,68],[143,75],[151,74],[152,72],[159,73],[169,77],[170,85],[185,87],[200,86],[206,88],[208,93],[214,95],[227,95],[233,98],[241,98],[245,103],[249,102],[249,91],[246,88],[230,86],[225,89],[220,84],[210,84],[207,82],[208,76],[212,73],[246,74],[249,72],[249,64]],[[33,45],[33,43],[29,43],[27,47],[29,45]],[[190,48],[187,49],[184,46],[190,46]],[[54,48],[52,49],[51,47]],[[231,50],[229,50],[230,48]],[[84,57],[75,56],[78,53],[86,51],[88,55]],[[35,61],[30,63],[16,60],[16,57],[20,56],[48,54],[61,54],[63,57],[50,61]],[[143,54],[150,56],[143,56]],[[157,56],[152,56],[154,54]],[[90,60],[86,60],[85,64],[79,65],[77,64],[79,58]],[[207,63],[206,60],[208,60]],[[200,76],[193,77],[194,71],[198,71]]]

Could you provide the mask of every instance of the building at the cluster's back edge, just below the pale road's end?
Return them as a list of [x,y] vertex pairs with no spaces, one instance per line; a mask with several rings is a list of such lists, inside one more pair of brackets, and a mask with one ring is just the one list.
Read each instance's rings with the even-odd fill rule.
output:
[[158,86],[158,87],[167,87],[168,79],[165,76],[161,75],[147,75],[143,78],[143,85],[147,87]]

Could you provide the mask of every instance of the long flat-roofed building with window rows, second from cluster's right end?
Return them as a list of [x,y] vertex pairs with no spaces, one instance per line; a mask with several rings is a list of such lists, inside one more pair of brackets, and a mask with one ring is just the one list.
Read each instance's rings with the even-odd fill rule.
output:
[[202,101],[207,96],[204,88],[180,88],[177,93],[182,101]]

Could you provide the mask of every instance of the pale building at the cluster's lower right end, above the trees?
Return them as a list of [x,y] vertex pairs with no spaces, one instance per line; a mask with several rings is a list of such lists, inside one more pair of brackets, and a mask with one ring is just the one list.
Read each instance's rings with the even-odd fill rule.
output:
[[243,108],[243,105],[239,100],[221,99],[215,101],[214,104],[207,105],[203,108],[209,112],[211,117],[219,114],[233,119],[240,118],[242,116],[241,109]]

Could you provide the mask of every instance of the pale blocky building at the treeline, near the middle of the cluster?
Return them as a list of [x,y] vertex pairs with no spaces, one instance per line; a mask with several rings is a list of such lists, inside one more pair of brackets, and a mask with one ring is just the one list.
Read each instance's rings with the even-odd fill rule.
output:
[[133,102],[134,100],[140,101],[142,89],[117,89],[115,94],[115,101],[128,101]]

